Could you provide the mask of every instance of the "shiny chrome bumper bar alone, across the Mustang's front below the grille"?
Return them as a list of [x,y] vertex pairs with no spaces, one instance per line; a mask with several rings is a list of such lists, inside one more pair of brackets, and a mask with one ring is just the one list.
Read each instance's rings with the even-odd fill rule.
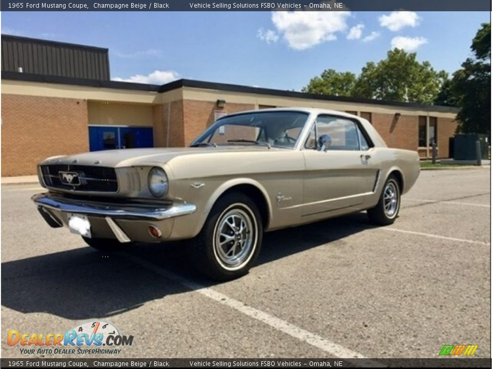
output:
[[182,203],[167,208],[149,208],[133,204],[97,204],[74,201],[67,198],[55,198],[49,193],[41,193],[31,197],[37,205],[67,213],[81,213],[93,216],[104,216],[121,219],[153,219],[162,220],[181,215],[192,214],[196,205]]

